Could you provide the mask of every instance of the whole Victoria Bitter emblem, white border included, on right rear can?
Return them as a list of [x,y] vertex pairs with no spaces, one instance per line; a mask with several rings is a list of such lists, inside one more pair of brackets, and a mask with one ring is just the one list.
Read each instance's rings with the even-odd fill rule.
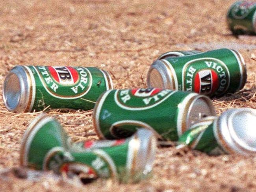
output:
[[230,81],[227,66],[215,58],[199,58],[187,62],[182,69],[183,90],[201,94],[221,94]]

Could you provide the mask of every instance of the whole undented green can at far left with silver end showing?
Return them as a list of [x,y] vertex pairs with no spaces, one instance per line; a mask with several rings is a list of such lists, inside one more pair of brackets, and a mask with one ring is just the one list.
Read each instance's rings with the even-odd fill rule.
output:
[[7,74],[3,99],[9,111],[51,108],[93,109],[102,92],[113,89],[108,72],[95,67],[16,66]]

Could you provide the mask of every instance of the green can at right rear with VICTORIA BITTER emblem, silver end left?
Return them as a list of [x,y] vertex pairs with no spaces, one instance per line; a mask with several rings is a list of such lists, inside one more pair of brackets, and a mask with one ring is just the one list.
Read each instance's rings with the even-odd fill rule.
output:
[[148,87],[220,96],[244,87],[243,57],[235,50],[219,49],[154,61],[148,70]]

